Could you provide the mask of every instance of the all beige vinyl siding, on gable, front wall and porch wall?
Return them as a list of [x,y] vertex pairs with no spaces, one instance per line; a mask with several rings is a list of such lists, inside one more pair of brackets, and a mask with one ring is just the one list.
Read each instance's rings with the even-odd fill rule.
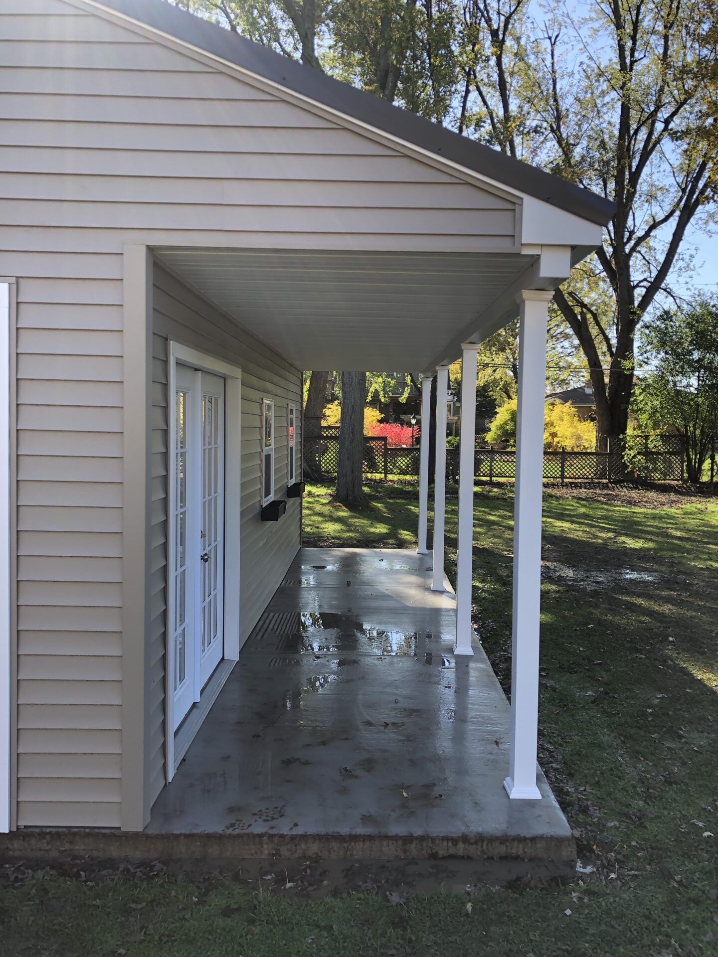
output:
[[[0,275],[18,280],[17,820],[116,827],[124,245],[504,250],[516,210],[261,82],[62,0],[3,0],[0,64]],[[185,293],[158,289],[156,318],[152,796],[164,773],[162,340],[172,329],[243,369],[245,636],[296,550],[300,508],[290,502],[276,525],[258,521],[259,401],[276,399],[283,440],[286,402],[300,402],[297,370]],[[280,494],[280,448],[275,468]]]

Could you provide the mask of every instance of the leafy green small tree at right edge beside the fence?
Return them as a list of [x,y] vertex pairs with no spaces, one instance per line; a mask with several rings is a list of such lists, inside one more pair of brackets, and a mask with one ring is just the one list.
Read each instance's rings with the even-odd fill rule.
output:
[[718,297],[650,319],[642,350],[653,369],[640,380],[636,417],[646,432],[683,436],[687,479],[698,482],[718,436]]

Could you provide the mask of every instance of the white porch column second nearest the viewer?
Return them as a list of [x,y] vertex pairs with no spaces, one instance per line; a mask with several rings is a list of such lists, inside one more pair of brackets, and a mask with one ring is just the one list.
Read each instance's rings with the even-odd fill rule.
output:
[[474,546],[474,448],[476,445],[476,367],[479,345],[461,345],[461,431],[457,552],[457,640],[455,655],[471,650],[471,581]]

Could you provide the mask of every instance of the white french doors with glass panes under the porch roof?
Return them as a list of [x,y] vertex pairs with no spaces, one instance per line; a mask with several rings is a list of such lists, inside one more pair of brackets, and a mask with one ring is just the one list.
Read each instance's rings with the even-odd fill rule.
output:
[[224,405],[223,378],[177,364],[169,462],[173,731],[224,651]]

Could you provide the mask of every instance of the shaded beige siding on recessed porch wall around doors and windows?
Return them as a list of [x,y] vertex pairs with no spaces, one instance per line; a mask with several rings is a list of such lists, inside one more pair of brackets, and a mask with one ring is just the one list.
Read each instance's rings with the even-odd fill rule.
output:
[[[153,616],[150,628],[150,734],[164,732],[166,649],[167,516],[168,516],[168,340],[190,345],[221,358],[242,370],[240,476],[227,476],[227,494],[239,481],[240,516],[240,641],[244,642],[258,617],[277,590],[300,546],[301,506],[287,501],[286,514],[278,523],[263,523],[260,483],[260,419],[262,398],[275,402],[275,497],[282,498],[287,482],[287,406],[302,401],[302,373],[272,349],[241,329],[211,302],[192,291],[162,265],[154,266],[152,317],[152,581]],[[301,434],[298,428],[298,447]],[[298,455],[298,468],[301,468]],[[154,599],[156,598],[156,604]],[[155,733],[150,753],[150,800],[165,778],[164,733]]]

